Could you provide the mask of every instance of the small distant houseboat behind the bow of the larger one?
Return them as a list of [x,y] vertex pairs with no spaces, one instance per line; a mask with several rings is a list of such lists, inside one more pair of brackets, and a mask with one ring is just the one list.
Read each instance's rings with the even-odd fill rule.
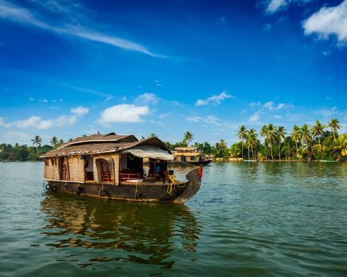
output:
[[175,148],[174,159],[180,163],[203,165],[212,162],[212,158],[206,158],[203,152],[196,147]]

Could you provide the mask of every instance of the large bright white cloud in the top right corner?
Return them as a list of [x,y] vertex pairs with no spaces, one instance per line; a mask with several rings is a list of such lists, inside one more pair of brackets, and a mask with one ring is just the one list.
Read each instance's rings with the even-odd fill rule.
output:
[[347,45],[347,0],[335,7],[323,7],[303,21],[305,35],[317,33],[320,39],[336,35],[341,45]]

